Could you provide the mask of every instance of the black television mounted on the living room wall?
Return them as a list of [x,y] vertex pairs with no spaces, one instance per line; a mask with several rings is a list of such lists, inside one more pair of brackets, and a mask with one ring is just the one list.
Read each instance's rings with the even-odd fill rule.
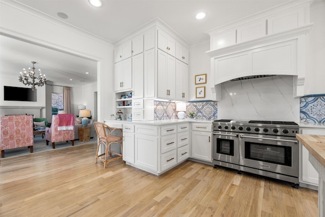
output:
[[36,102],[36,89],[4,86],[4,100]]

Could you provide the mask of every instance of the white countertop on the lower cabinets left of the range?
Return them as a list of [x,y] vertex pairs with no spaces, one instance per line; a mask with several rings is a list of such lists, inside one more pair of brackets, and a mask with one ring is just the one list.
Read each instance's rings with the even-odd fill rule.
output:
[[114,122],[114,123],[136,123],[142,125],[170,125],[172,123],[186,123],[186,122],[202,122],[202,123],[212,123],[214,120],[200,120],[200,119],[168,119],[168,120],[148,120],[148,121],[141,121],[141,120],[118,120],[118,119],[107,119],[104,120],[105,122]]

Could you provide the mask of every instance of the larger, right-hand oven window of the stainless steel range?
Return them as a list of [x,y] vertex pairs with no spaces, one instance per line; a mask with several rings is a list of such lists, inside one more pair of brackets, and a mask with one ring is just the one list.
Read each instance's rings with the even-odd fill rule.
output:
[[245,158],[291,166],[291,147],[245,142]]

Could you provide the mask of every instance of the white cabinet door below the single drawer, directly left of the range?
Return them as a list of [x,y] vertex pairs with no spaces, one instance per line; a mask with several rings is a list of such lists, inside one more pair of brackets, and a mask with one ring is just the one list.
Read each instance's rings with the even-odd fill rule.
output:
[[192,131],[192,158],[212,161],[211,133]]

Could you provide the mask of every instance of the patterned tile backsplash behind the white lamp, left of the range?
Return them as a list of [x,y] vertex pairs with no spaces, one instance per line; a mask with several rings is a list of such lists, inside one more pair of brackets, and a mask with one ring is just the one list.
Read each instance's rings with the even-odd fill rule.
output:
[[[217,119],[217,102],[189,102],[186,104],[185,118],[188,112],[194,113],[194,118],[201,120]],[[154,102],[154,120],[177,119],[176,103]]]

